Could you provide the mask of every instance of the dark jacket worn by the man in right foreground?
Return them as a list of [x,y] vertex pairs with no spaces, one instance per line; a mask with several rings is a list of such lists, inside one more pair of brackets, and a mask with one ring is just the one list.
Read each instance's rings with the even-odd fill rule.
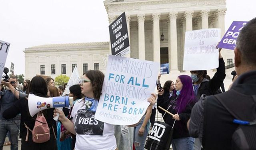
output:
[[255,89],[256,71],[251,71],[240,75],[228,92],[218,94],[221,101],[216,96],[202,97],[192,109],[190,135],[199,136],[205,150],[231,150],[232,134],[238,127],[232,121],[256,118]]

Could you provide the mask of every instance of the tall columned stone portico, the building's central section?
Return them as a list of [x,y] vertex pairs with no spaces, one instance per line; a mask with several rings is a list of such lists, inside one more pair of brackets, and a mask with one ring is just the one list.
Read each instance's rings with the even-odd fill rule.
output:
[[[104,5],[110,23],[126,12],[130,57],[169,62],[175,71],[182,71],[186,31],[220,28],[225,33],[226,0],[106,0]],[[225,62],[233,58],[232,51],[222,54]]]

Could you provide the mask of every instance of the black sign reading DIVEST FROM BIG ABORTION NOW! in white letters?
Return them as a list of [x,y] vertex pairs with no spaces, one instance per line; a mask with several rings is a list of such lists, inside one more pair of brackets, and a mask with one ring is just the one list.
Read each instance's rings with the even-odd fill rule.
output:
[[109,26],[111,54],[115,56],[124,56],[130,53],[130,44],[126,23],[125,12],[122,13]]

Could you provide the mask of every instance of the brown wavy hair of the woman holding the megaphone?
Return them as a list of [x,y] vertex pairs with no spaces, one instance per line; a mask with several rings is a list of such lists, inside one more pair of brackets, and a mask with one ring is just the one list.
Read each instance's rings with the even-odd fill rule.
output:
[[86,77],[90,79],[94,98],[99,100],[100,95],[102,94],[101,90],[104,81],[104,74],[99,70],[88,70],[83,75],[86,75]]

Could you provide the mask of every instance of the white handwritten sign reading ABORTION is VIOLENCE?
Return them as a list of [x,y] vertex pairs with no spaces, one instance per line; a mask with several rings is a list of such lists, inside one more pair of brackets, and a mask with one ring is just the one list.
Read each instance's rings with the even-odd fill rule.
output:
[[183,70],[210,70],[218,68],[220,29],[188,31],[185,35]]

